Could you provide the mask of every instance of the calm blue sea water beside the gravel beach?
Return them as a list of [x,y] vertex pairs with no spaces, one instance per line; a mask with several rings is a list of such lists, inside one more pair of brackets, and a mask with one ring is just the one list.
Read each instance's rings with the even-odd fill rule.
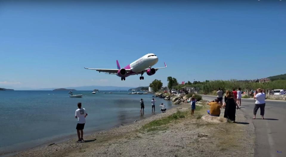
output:
[[[127,92],[75,91],[83,98],[69,98],[68,91],[0,91],[0,154],[35,147],[51,139],[74,135],[75,110],[81,102],[86,109],[85,132],[100,131],[151,116],[152,94],[129,95]],[[140,114],[140,98],[145,114]],[[171,108],[171,101],[155,98],[156,113],[160,103]]]

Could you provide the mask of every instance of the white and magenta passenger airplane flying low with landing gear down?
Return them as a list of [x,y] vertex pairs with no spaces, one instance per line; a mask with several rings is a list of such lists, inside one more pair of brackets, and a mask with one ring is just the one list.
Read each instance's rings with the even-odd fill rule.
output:
[[118,60],[116,60],[117,69],[97,69],[87,67],[84,68],[96,70],[99,71],[99,73],[104,72],[106,74],[116,74],[117,76],[121,77],[121,81],[125,81],[125,78],[130,75],[138,74],[141,74],[140,80],[144,80],[144,73],[147,73],[147,75],[151,76],[154,75],[158,69],[163,69],[167,67],[166,63],[164,62],[165,67],[153,68],[152,66],[155,65],[157,62],[158,57],[155,54],[146,54],[124,68],[120,68]]

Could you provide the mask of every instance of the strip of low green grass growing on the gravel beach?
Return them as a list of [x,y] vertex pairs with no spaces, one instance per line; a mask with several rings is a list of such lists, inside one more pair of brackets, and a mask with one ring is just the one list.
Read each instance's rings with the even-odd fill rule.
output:
[[179,110],[177,110],[176,113],[171,114],[168,117],[163,117],[159,120],[153,120],[148,124],[145,124],[142,126],[142,129],[150,132],[150,131],[163,131],[168,129],[168,126],[163,126],[166,125],[168,123],[171,123],[171,121],[173,120],[178,120],[180,118],[185,118],[188,114],[188,111],[185,112],[181,112]]

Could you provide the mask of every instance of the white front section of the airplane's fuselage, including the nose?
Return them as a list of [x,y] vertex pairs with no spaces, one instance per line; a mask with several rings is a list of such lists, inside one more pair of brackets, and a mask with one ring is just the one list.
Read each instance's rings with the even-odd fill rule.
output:
[[152,67],[158,62],[158,57],[155,54],[146,54],[141,58],[130,64],[130,69],[132,72],[140,73],[141,71]]

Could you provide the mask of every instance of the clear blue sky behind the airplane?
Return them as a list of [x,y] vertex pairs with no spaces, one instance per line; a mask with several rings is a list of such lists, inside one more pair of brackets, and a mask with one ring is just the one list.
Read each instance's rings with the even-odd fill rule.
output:
[[[286,73],[286,1],[0,2],[0,87],[148,86]],[[121,81],[84,67],[154,53],[168,68]]]

